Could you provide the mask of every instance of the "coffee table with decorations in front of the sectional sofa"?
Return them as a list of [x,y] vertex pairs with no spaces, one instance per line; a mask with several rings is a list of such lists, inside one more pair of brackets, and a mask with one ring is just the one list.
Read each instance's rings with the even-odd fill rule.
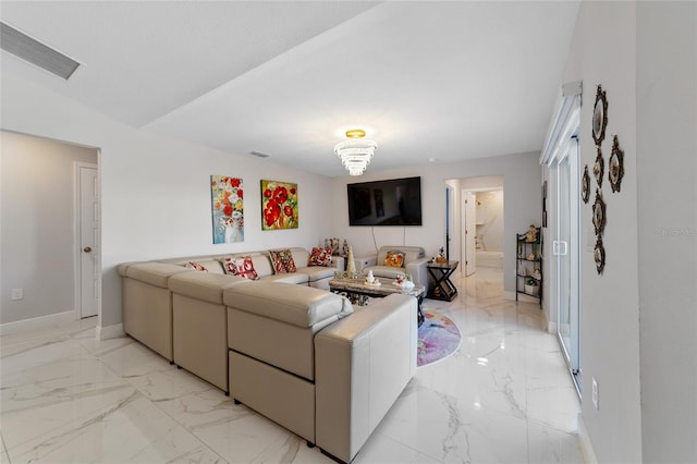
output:
[[365,278],[348,279],[348,278],[334,278],[329,281],[329,290],[334,293],[345,293],[352,303],[357,303],[359,306],[366,305],[368,296],[384,297],[392,293],[401,293],[403,295],[414,296],[416,298],[416,320],[420,326],[424,322],[424,309],[421,303],[426,296],[426,286],[414,285],[412,289],[403,289],[399,285],[394,285],[392,279],[376,278],[380,284],[369,284]]

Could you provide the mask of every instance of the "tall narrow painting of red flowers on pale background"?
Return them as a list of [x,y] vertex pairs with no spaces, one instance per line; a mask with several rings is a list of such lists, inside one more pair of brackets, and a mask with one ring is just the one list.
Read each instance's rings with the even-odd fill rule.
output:
[[244,194],[242,179],[210,176],[213,243],[244,242]]

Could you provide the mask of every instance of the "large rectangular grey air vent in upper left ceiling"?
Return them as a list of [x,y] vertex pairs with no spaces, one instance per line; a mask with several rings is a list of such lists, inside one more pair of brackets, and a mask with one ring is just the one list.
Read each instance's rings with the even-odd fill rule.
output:
[[80,63],[0,22],[0,48],[68,81]]

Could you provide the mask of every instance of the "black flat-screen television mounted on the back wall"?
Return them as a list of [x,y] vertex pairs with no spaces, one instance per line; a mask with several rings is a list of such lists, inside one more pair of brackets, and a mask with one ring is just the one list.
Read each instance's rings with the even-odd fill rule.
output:
[[421,178],[346,185],[348,225],[421,225]]

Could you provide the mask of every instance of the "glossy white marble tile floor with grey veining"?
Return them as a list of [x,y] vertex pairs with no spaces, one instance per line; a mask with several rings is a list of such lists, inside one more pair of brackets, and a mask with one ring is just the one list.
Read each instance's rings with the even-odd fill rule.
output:
[[[537,304],[500,269],[426,300],[463,332],[420,367],[354,463],[580,463],[578,399]],[[1,338],[1,462],[332,463],[274,423],[96,318]]]

